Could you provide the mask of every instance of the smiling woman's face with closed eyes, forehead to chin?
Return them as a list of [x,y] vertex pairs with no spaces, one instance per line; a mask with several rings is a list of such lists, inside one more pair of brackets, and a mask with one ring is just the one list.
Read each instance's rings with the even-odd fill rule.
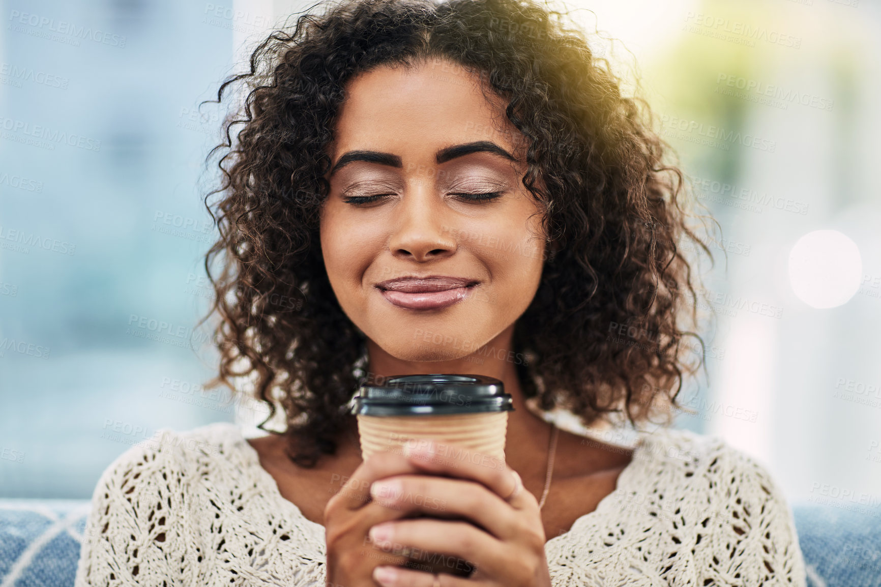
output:
[[487,104],[453,63],[383,66],[349,83],[328,151],[322,254],[372,356],[379,346],[398,360],[455,360],[509,335],[545,249],[524,148],[504,102]]

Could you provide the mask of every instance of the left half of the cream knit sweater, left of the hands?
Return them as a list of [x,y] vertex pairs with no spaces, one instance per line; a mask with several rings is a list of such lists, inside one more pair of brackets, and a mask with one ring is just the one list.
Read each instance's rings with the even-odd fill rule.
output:
[[278,495],[238,427],[163,429],[101,475],[74,584],[219,585],[233,575],[317,584],[322,539]]

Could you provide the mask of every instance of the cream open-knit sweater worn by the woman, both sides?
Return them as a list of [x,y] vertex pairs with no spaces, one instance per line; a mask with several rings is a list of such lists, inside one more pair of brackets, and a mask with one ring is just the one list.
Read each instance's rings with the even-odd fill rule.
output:
[[[618,487],[545,544],[554,587],[805,584],[791,510],[714,436],[640,435]],[[324,528],[278,493],[238,427],[161,430],[92,498],[76,587],[323,587]]]

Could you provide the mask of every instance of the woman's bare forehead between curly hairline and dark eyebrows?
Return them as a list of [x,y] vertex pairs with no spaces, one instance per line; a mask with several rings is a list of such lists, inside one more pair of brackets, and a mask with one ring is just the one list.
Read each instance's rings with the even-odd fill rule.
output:
[[433,157],[438,148],[475,140],[517,152],[522,134],[505,116],[507,102],[488,88],[487,101],[480,83],[476,73],[444,60],[360,74],[346,86],[331,160],[356,149]]

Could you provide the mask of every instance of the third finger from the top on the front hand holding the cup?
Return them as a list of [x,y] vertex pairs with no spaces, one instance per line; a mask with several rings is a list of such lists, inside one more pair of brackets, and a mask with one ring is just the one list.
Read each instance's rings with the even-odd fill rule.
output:
[[415,549],[410,556],[416,561],[434,561],[446,554],[455,557],[444,558],[446,566],[467,568],[470,563],[489,576],[504,574],[506,544],[468,522],[405,519],[374,526],[369,536],[380,548]]

